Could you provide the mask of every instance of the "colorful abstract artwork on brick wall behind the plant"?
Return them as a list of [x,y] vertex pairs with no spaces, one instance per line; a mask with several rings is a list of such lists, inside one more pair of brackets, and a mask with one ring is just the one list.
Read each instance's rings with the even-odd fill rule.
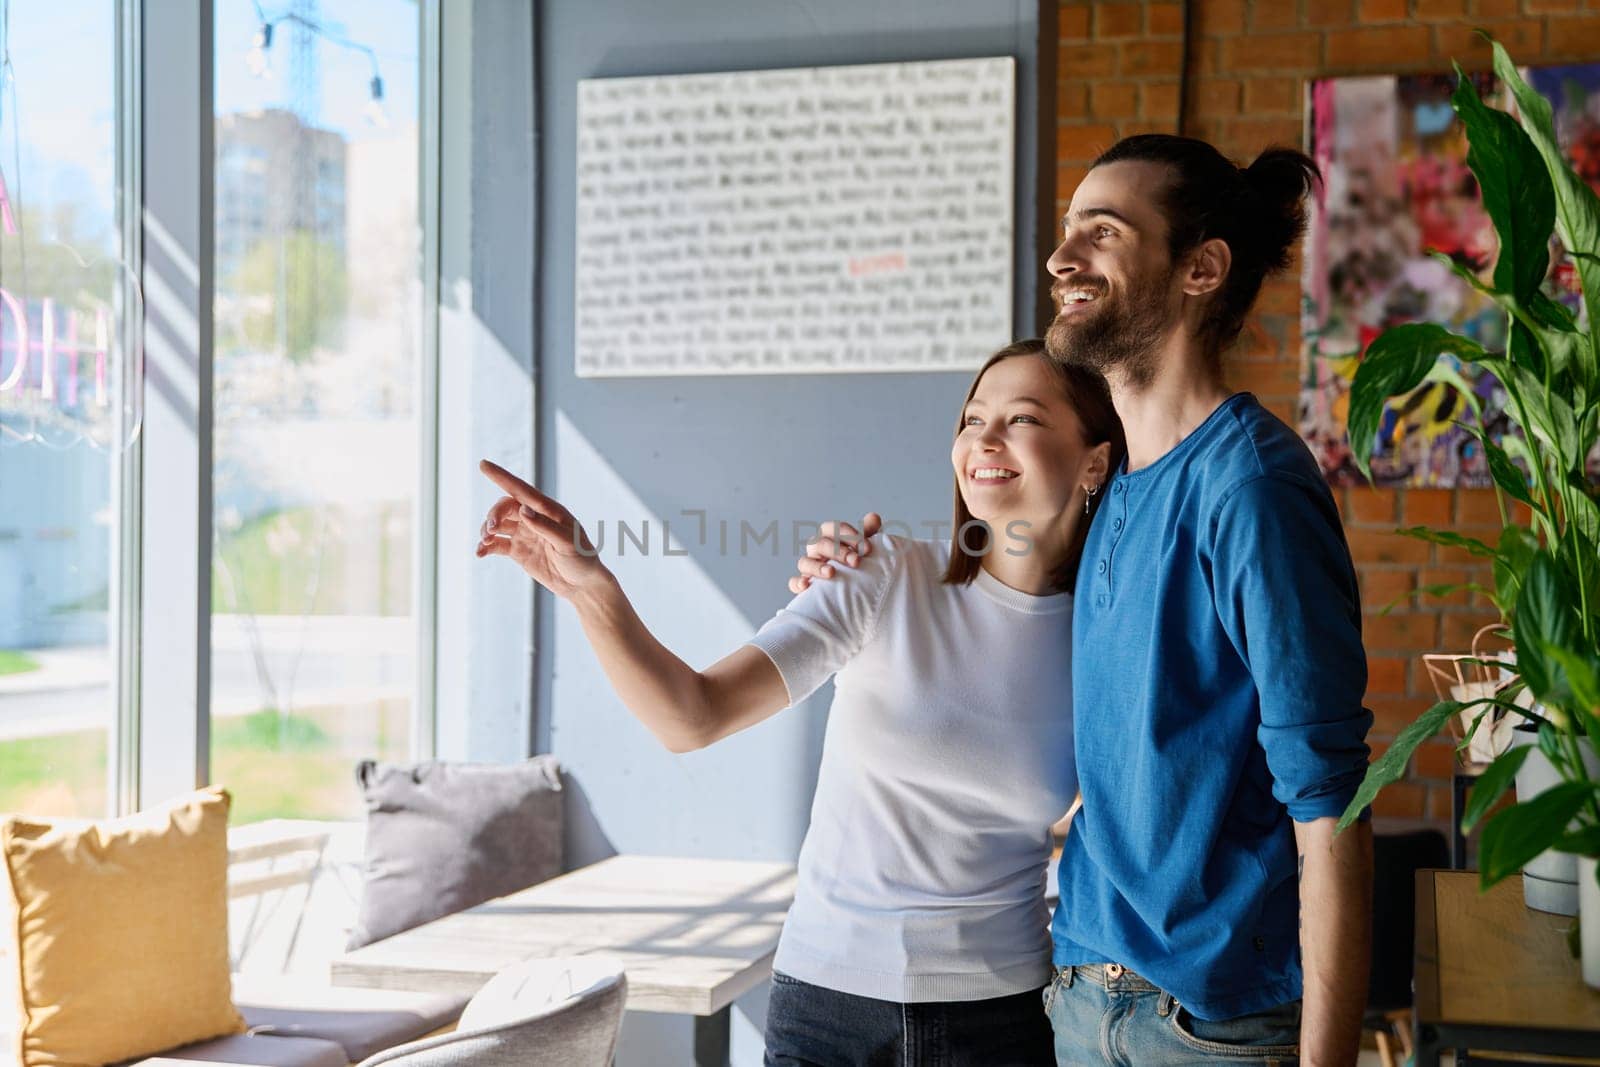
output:
[[[1600,190],[1600,64],[1542,67],[1530,83],[1555,106],[1557,134]],[[1506,107],[1493,78],[1480,93]],[[1467,138],[1450,94],[1453,75],[1325,78],[1309,86],[1309,144],[1322,166],[1301,298],[1301,434],[1334,485],[1365,480],[1350,459],[1346,410],[1366,346],[1389,326],[1438,322],[1491,350],[1506,346],[1504,314],[1434,259],[1442,251],[1485,278],[1494,227],[1467,170]],[[1578,277],[1552,258],[1546,290],[1576,310]],[[1504,395],[1488,374],[1461,368],[1490,432],[1504,429]],[[1389,402],[1373,453],[1379,486],[1488,486],[1483,453],[1456,421],[1466,403],[1427,382]],[[1469,413],[1470,414],[1470,413]],[[1600,454],[1590,470],[1600,475]]]

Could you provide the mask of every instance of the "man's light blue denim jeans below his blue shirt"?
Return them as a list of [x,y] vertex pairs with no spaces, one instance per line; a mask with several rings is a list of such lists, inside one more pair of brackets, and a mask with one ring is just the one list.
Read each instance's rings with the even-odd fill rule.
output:
[[1114,963],[1067,966],[1045,987],[1059,1067],[1176,1067],[1178,1064],[1299,1062],[1301,1001],[1206,1022],[1142,977]]

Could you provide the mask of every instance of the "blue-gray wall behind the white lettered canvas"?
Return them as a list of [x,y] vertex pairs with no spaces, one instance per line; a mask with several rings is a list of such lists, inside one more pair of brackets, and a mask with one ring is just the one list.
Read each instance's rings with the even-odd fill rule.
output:
[[[1043,5],[1046,11],[1053,3]],[[1040,326],[1053,222],[1038,208],[1040,5],[1013,0],[552,0],[538,27],[539,96],[539,483],[597,534],[605,558],[656,635],[694,665],[736,648],[781,608],[792,522],[877,509],[949,522],[949,445],[968,376],[811,374],[586,379],[573,373],[576,83],[590,77],[694,74],[912,59],[1018,59],[1019,334]],[[1050,16],[1046,14],[1046,19]],[[1045,61],[1054,27],[1045,26]],[[1053,98],[1045,101],[1053,107]],[[1045,122],[1053,126],[1053,114]],[[1045,203],[1053,200],[1046,189]],[[1043,230],[1040,230],[1043,226]],[[640,262],[648,272],[651,264]],[[686,509],[706,512],[707,539]],[[648,555],[616,550],[616,522],[650,523]],[[664,555],[661,522],[672,526]],[[739,523],[776,520],[781,544],[741,552]],[[728,523],[723,552],[720,523]],[[923,536],[926,531],[920,531]],[[802,534],[803,536],[803,534]],[[536,742],[581,793],[576,854],[638,853],[792,861],[810,813],[829,689],[710,750],[669,755],[611,694],[565,603],[539,598]],[[750,1056],[760,1005],[734,1022]],[[624,1053],[634,1043],[624,1040]],[[635,1045],[637,1046],[637,1045]],[[757,1053],[758,1056],[758,1053]],[[627,1056],[624,1056],[627,1059]]]

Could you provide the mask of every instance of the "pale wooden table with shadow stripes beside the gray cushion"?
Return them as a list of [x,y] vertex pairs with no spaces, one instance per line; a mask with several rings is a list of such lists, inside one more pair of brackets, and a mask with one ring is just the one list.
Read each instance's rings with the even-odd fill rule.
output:
[[477,992],[533,957],[606,955],[627,1008],[694,1016],[694,1061],[728,1061],[728,1006],[763,982],[794,901],[789,864],[614,856],[333,961],[334,985]]

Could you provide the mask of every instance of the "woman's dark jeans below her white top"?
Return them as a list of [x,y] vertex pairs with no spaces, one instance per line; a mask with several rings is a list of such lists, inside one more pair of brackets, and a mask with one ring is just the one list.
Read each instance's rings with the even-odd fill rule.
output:
[[1040,990],[901,1005],[773,973],[766,1067],[1054,1067]]

